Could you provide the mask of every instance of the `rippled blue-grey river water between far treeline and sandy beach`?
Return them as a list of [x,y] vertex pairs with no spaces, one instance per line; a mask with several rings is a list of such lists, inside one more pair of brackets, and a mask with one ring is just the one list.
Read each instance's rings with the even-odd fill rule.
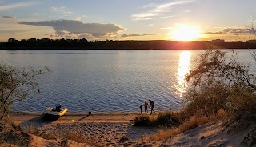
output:
[[[14,110],[41,112],[62,103],[70,112],[138,112],[151,99],[156,109],[181,109],[185,74],[203,50],[0,50],[12,66],[47,66],[41,93],[15,103]],[[248,50],[242,62],[253,64]]]

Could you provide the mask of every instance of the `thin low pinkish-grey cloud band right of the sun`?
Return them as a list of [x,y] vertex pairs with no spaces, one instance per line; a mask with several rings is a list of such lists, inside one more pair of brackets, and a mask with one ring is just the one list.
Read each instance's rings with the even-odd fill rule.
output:
[[254,28],[226,28],[218,32],[206,32],[204,34],[254,34]]

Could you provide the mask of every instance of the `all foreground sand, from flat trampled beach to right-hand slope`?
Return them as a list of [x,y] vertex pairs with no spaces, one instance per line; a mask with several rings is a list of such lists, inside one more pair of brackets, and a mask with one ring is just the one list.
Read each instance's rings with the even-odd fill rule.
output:
[[[254,122],[246,122],[244,128],[232,132],[222,121],[190,129],[167,141],[150,141],[148,135],[159,128],[134,127],[133,119],[138,113],[68,113],[57,121],[43,121],[41,113],[12,113],[10,117],[22,129],[34,128],[38,133],[58,134],[71,130],[88,139],[89,143],[68,141],[67,146],[239,146],[250,132],[256,134]],[[233,126],[234,127],[234,126]],[[239,130],[241,128],[241,130]],[[62,142],[63,143],[63,142]],[[65,142],[64,142],[65,143]],[[32,146],[59,146],[60,139],[46,140],[34,136]],[[64,145],[64,146],[65,146]],[[63,145],[62,145],[63,146]],[[245,145],[246,146],[246,145]]]

